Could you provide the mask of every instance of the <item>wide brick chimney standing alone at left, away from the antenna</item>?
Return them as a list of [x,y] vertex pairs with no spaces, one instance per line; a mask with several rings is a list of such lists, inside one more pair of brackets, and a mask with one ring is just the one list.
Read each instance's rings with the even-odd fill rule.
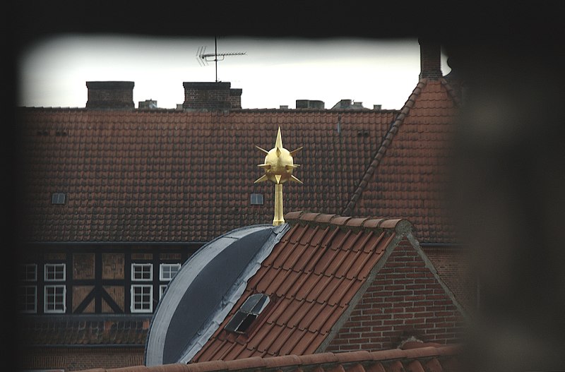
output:
[[133,109],[133,81],[87,81],[87,109]]

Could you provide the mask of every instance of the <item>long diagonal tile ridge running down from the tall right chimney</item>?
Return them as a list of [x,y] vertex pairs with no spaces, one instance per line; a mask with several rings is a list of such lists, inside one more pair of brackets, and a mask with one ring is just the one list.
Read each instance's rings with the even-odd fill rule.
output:
[[379,163],[381,162],[381,159],[385,155],[386,150],[388,150],[388,146],[391,145],[393,137],[396,135],[396,133],[398,133],[398,130],[400,129],[400,126],[403,124],[405,117],[408,116],[408,114],[410,113],[410,109],[414,107],[416,98],[420,95],[424,86],[427,85],[427,82],[428,82],[427,78],[421,78],[418,81],[418,83],[416,84],[416,88],[412,90],[412,94],[410,95],[410,97],[408,97],[408,100],[406,100],[403,108],[400,109],[400,113],[398,114],[398,116],[396,116],[396,119],[393,121],[391,128],[388,128],[388,132],[386,133],[386,136],[383,142],[381,143],[381,146],[379,146],[379,150],[376,152],[373,161],[371,162],[371,164],[369,164],[369,167],[367,167],[367,170],[365,171],[361,181],[359,182],[359,186],[357,186],[357,189],[353,192],[353,195],[351,196],[349,203],[347,203],[347,205],[345,206],[345,209],[342,212],[344,215],[350,215],[352,213],[353,208],[355,208],[355,204],[357,203],[357,200],[359,200],[365,187],[367,187],[367,185],[369,184],[369,180],[371,179],[371,176],[374,174],[376,167],[379,166]]

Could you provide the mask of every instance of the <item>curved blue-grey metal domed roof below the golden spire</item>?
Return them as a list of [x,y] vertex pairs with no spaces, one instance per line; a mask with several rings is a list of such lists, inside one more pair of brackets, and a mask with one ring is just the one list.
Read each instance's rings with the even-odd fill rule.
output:
[[145,364],[189,361],[244,292],[247,280],[288,229],[235,229],[200,248],[169,283],[145,344]]

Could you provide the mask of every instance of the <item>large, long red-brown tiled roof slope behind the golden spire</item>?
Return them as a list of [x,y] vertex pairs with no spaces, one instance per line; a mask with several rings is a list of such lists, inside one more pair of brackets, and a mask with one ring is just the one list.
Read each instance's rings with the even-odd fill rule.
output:
[[[396,111],[92,111],[22,108],[25,241],[210,241],[273,219],[253,184],[278,126],[303,185],[287,210],[340,211]],[[338,125],[339,124],[339,125]],[[338,131],[339,127],[339,131]],[[52,193],[66,193],[64,205]],[[263,205],[250,205],[262,193]]]

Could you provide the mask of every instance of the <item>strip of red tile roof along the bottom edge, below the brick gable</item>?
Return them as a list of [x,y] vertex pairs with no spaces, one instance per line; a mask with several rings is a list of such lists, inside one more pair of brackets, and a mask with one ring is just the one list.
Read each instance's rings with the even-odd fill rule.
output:
[[388,372],[388,371],[463,371],[461,347],[425,346],[391,349],[379,352],[321,353],[251,357],[232,361],[204,361],[195,364],[165,364],[162,366],[132,366],[126,368],[95,368],[89,372]]

